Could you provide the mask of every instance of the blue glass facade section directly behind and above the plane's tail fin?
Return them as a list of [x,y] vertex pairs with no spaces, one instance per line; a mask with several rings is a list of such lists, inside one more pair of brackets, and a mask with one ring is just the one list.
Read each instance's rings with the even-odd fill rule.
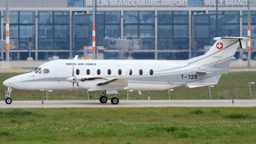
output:
[[240,36],[239,11],[219,11],[218,22],[215,11],[209,14],[194,14],[191,25],[193,50],[203,50],[205,45],[213,45],[215,43],[213,38],[217,36]]

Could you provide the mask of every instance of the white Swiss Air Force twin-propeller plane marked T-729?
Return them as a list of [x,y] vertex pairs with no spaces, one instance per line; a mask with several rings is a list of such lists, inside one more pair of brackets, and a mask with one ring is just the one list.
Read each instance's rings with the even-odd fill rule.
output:
[[88,90],[102,92],[101,103],[118,90],[169,90],[185,85],[188,88],[217,84],[228,67],[238,45],[246,48],[243,37],[217,37],[209,51],[190,60],[53,60],[27,74],[3,82],[8,86],[6,104],[11,104],[13,88],[20,90]]

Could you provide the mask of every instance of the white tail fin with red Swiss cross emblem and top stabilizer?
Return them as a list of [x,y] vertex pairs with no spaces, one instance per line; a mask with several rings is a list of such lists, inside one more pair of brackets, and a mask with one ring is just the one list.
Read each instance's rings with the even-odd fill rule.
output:
[[193,65],[202,65],[207,67],[228,68],[237,46],[246,49],[246,39],[244,37],[217,37],[215,44],[203,56],[188,60]]

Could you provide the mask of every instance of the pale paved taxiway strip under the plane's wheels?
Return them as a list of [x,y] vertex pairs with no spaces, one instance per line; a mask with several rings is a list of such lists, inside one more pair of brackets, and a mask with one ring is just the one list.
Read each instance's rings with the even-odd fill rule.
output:
[[[139,107],[231,107],[232,100],[120,100],[113,105],[110,100],[44,100],[44,108],[139,108]],[[256,100],[234,100],[235,107],[254,107]],[[42,108],[42,100],[13,100],[12,104],[0,101],[0,108]]]

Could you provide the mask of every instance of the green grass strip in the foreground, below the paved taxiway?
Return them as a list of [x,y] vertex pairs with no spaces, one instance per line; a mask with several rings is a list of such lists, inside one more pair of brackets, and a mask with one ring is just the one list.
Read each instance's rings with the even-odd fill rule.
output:
[[255,143],[255,111],[232,107],[0,109],[0,143]]

